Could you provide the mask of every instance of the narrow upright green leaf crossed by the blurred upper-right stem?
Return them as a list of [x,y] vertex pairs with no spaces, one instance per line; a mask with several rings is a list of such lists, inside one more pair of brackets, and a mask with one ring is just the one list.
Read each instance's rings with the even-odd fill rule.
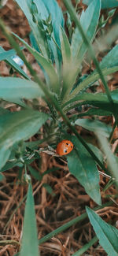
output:
[[[94,0],[91,5],[87,8],[86,12],[82,13],[80,23],[83,26],[83,30],[87,35],[89,42],[94,39],[94,34],[98,24],[98,18],[100,14],[100,0]],[[83,38],[76,28],[72,36],[72,46],[71,52],[73,54],[72,61],[68,62],[68,69],[66,70],[66,83],[64,83],[64,88],[68,87],[66,94],[63,94],[63,103],[71,97],[70,91],[72,91],[73,84],[76,82],[76,76],[79,73],[80,65],[83,60],[84,54],[87,51],[87,45],[83,42]]]

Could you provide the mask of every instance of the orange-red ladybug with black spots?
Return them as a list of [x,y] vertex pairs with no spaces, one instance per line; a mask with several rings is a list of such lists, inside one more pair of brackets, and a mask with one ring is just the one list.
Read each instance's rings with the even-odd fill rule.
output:
[[59,155],[65,155],[69,154],[73,149],[73,144],[70,140],[64,139],[61,141],[61,143],[57,144],[57,154]]

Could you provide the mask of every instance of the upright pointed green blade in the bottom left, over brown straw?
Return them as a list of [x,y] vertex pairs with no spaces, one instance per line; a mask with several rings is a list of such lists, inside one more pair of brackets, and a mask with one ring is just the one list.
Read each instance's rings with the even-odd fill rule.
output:
[[20,256],[39,256],[38,233],[35,219],[35,203],[31,184],[28,185],[28,196],[24,212],[23,237]]

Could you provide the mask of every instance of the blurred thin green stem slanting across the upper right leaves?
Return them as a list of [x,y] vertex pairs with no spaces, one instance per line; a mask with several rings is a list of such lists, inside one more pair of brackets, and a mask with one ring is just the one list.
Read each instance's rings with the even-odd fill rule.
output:
[[81,26],[81,24],[79,22],[78,17],[76,16],[76,11],[73,8],[72,3],[70,2],[70,0],[63,0],[63,2],[65,3],[65,6],[68,9],[68,13],[70,14],[72,20],[76,23],[76,27],[79,29],[79,32],[82,35],[83,42],[87,45],[88,50],[90,51],[91,58],[94,61],[94,65],[96,66],[96,69],[98,70],[98,73],[99,73],[99,76],[101,78],[101,81],[102,81],[102,83],[103,83],[103,85],[105,87],[106,95],[109,98],[109,102],[113,106],[112,96],[110,94],[109,87],[108,87],[108,85],[107,85],[107,83],[105,81],[105,77],[104,77],[104,75],[103,75],[103,73],[101,71],[101,68],[100,68],[100,65],[98,63],[98,60],[97,60],[97,58],[94,55],[94,50],[93,50],[92,46],[90,45],[89,40],[87,39],[87,35],[83,31],[83,28],[82,28],[82,26]]

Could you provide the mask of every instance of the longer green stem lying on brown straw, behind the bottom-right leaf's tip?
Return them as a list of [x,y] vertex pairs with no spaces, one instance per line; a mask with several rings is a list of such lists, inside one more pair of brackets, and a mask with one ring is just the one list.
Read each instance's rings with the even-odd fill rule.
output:
[[[95,207],[94,210],[99,210],[99,209],[104,208],[105,206],[111,206],[112,204],[113,204],[113,202],[107,202],[107,203],[103,204],[102,206]],[[70,228],[72,225],[78,223],[79,221],[83,221],[86,217],[87,217],[87,213],[83,213],[81,216],[76,217],[72,221],[68,221],[68,223],[63,224],[61,227],[53,230],[48,235],[42,237],[42,239],[39,239],[39,245],[41,243],[45,243],[48,239],[51,239],[53,236],[57,236],[57,234],[59,234],[60,232],[64,232],[67,228]]]

